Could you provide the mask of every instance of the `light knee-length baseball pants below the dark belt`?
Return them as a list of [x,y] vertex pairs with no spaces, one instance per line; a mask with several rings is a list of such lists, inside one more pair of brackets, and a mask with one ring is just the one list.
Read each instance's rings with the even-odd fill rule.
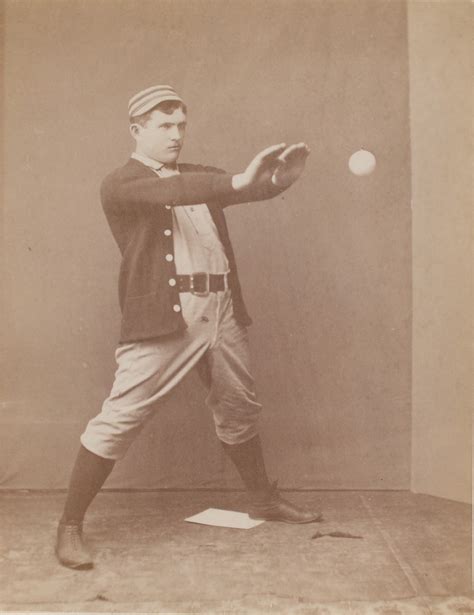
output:
[[233,316],[230,292],[181,293],[180,299],[185,331],[118,346],[110,396],[81,436],[91,452],[123,457],[159,401],[195,366],[208,387],[218,438],[239,444],[256,435],[262,407],[250,373],[247,329]]

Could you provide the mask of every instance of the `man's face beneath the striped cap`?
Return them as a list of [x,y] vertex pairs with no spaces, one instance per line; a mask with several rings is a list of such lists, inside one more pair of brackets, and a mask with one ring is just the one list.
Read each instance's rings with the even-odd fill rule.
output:
[[170,114],[155,109],[146,126],[132,124],[130,131],[137,153],[164,164],[174,163],[183,147],[186,115],[180,108]]

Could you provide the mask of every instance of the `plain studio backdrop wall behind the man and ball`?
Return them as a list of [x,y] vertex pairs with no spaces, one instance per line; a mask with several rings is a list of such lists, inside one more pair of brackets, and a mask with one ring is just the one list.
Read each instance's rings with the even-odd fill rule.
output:
[[[408,488],[410,160],[402,2],[5,4],[0,485],[61,488],[107,397],[119,252],[99,201],[132,151],[127,101],[169,83],[182,161],[241,171],[282,141],[300,181],[227,220],[252,315],[269,473],[282,487]],[[360,178],[349,156],[372,151]],[[196,374],[108,487],[234,487]]]

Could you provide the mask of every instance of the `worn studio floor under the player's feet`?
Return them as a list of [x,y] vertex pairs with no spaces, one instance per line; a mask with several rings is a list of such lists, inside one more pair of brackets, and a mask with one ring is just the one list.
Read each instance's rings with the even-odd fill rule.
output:
[[[251,530],[184,519],[238,492],[102,492],[90,571],[54,555],[63,493],[0,493],[0,609],[121,613],[474,613],[471,507],[407,492],[298,492],[324,522]],[[342,532],[361,538],[322,536]]]

